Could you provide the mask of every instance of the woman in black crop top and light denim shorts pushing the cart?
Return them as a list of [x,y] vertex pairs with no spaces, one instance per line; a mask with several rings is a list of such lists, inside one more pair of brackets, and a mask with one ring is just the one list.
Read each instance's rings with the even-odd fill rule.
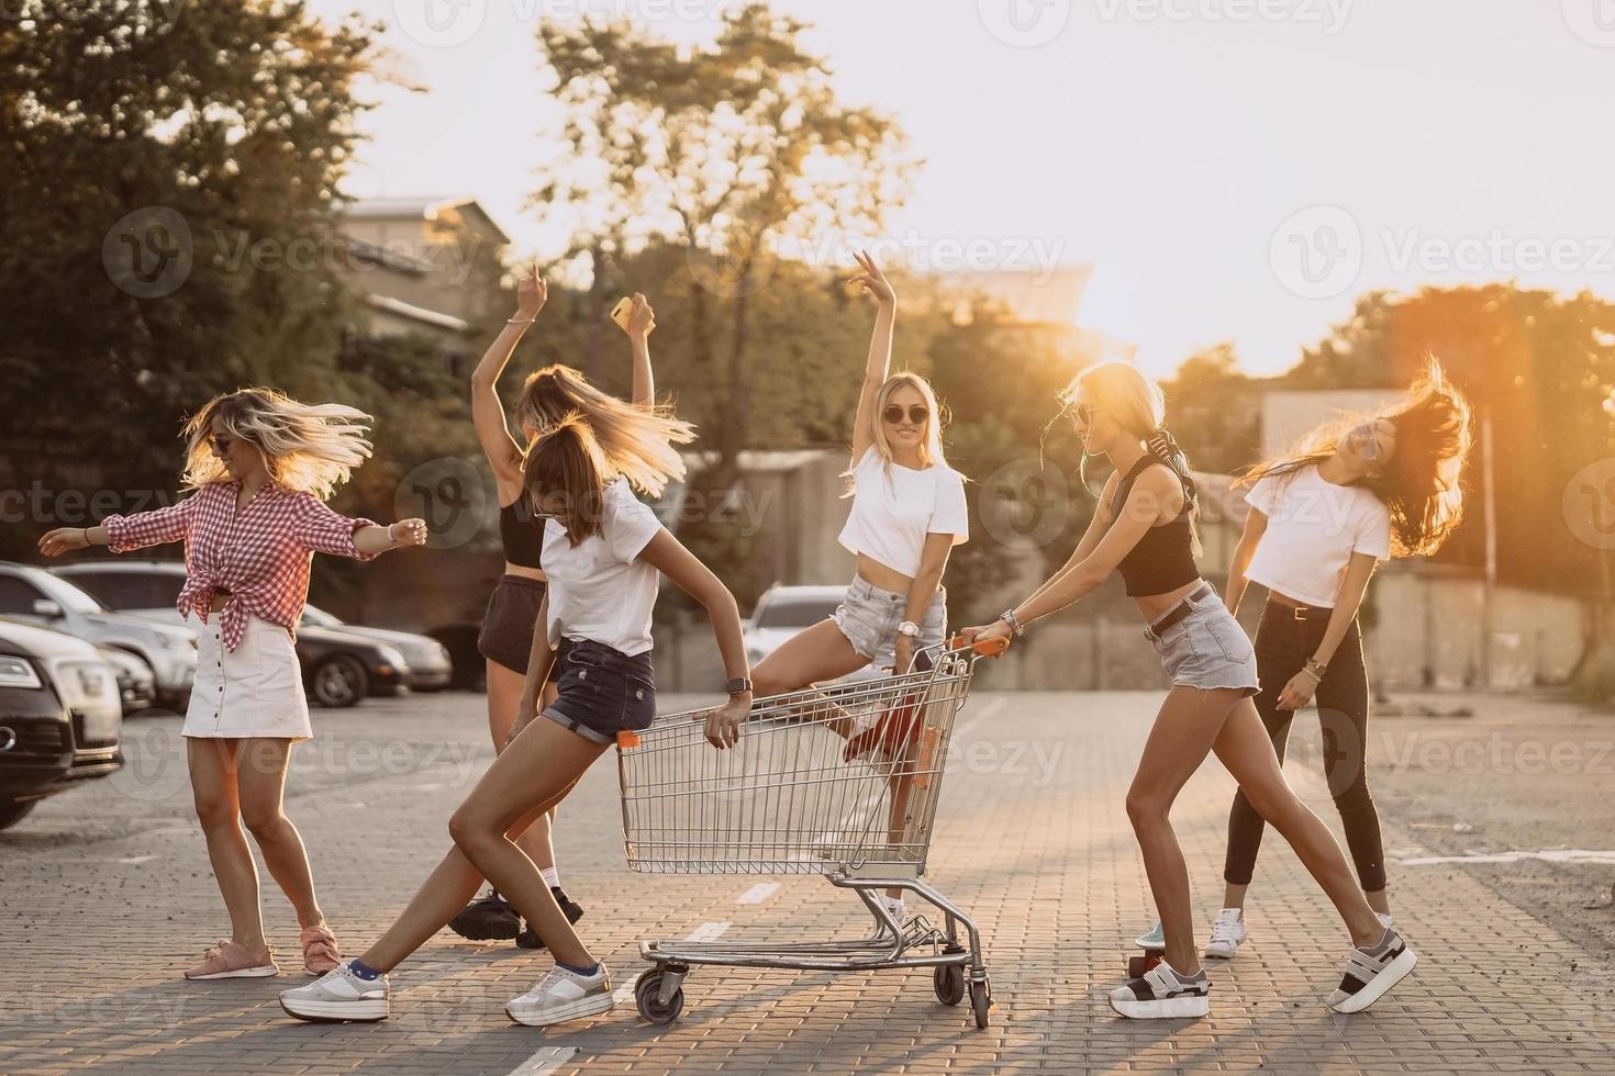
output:
[[1252,703],[1256,657],[1250,640],[1195,568],[1195,490],[1189,461],[1161,426],[1161,390],[1127,363],[1101,363],[1077,376],[1064,402],[1085,455],[1103,452],[1116,473],[1064,568],[1019,607],[993,624],[966,629],[964,637],[1019,637],[1119,571],[1172,678],[1127,790],[1127,815],[1164,926],[1166,961],[1113,991],[1111,1007],[1122,1016],[1155,1018],[1210,1011],[1210,982],[1189,911],[1189,871],[1168,815],[1184,782],[1216,752],[1328,892],[1352,936],[1345,974],[1328,1003],[1342,1013],[1366,1008],[1412,971],[1416,957],[1374,918],[1340,847],[1279,773]]

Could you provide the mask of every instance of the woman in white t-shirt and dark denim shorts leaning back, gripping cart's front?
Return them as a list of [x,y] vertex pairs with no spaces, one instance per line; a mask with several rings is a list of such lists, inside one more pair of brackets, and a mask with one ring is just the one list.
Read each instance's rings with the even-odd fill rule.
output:
[[[538,926],[556,958],[536,987],[505,1007],[512,1020],[546,1026],[612,1008],[610,974],[510,837],[560,803],[617,732],[651,723],[651,611],[662,573],[706,607],[728,671],[730,699],[707,716],[707,740],[730,747],[740,737],[751,682],[735,598],[609,469],[588,423],[568,418],[539,436],[525,490],[546,516],[549,586],[510,742],[454,811],[455,847],[404,915],[359,960],[283,992],[281,1007],[292,1016],[384,1020],[386,973],[459,911],[480,878]],[[552,671],[559,692],[539,711]]]

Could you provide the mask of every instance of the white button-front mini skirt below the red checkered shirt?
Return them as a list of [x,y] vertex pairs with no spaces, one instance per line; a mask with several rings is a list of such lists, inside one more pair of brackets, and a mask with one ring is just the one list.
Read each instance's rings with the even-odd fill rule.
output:
[[305,740],[308,699],[289,631],[247,616],[241,645],[224,649],[221,613],[210,613],[197,639],[197,678],[182,736]]

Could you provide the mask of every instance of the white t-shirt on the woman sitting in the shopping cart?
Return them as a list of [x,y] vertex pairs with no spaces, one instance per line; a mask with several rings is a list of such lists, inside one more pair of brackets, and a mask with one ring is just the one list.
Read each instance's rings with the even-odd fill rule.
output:
[[853,471],[853,490],[841,545],[904,576],[919,574],[927,534],[951,534],[954,545],[971,537],[964,476],[953,468],[893,463],[888,479],[885,460],[869,447]]

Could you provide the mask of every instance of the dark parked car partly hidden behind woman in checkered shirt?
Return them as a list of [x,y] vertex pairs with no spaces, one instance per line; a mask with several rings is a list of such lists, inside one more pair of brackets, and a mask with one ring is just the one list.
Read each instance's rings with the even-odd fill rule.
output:
[[[186,566],[179,561],[87,560],[63,565],[57,568],[57,574],[120,613],[194,632],[186,624],[195,621],[182,618],[174,605],[186,579]],[[352,707],[367,695],[409,690],[410,665],[394,644],[355,634],[346,624],[325,628],[320,616],[315,610],[315,619],[304,616],[297,626],[297,661],[302,665],[304,687],[315,703]],[[431,639],[422,637],[422,642],[436,647]]]

